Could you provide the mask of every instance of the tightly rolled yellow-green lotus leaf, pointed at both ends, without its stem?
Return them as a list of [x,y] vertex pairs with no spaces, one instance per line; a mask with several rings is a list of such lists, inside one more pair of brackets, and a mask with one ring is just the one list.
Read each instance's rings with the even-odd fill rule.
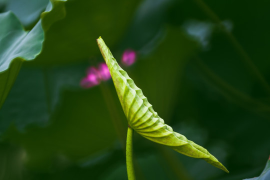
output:
[[153,110],[141,89],[118,65],[103,39],[99,37],[96,41],[108,66],[121,106],[131,128],[149,140],[167,145],[184,155],[204,159],[213,166],[228,172],[226,167],[205,148],[188,140],[184,135],[174,132],[169,125],[165,124],[164,120]]

